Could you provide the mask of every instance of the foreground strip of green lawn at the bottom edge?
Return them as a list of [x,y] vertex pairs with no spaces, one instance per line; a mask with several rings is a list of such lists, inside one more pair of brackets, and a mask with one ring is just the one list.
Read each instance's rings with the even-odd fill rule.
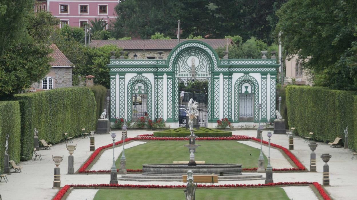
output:
[[[183,188],[180,189],[100,189],[94,196],[94,200],[173,200],[185,199]],[[195,192],[196,200],[210,199],[244,199],[244,200],[289,200],[285,191],[281,187],[259,187],[259,188],[197,188]]]

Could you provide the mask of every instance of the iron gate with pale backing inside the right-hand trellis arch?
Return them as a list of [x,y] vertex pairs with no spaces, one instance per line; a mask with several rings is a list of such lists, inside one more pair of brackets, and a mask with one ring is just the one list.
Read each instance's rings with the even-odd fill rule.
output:
[[254,119],[254,94],[239,94],[239,121],[253,122]]

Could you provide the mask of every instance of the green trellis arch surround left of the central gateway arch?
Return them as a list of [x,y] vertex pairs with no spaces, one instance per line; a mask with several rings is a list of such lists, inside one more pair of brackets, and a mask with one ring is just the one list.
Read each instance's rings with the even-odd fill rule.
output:
[[135,85],[137,83],[142,83],[144,85],[144,89],[145,92],[147,94],[147,115],[149,117],[149,119],[151,119],[152,117],[152,86],[151,86],[151,82],[148,78],[144,77],[143,75],[139,74],[133,78],[130,79],[129,83],[128,83],[128,87],[127,87],[127,110],[128,110],[128,114],[127,114],[127,119],[131,120],[132,119],[132,93],[133,90],[135,89]]

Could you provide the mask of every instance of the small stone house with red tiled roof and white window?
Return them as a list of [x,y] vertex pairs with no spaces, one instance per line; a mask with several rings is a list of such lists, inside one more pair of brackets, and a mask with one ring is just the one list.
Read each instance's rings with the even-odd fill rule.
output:
[[37,83],[33,83],[31,88],[36,90],[54,89],[72,86],[72,68],[74,64],[57,48],[55,44],[50,46],[53,52],[49,55],[54,60],[50,72],[46,77]]

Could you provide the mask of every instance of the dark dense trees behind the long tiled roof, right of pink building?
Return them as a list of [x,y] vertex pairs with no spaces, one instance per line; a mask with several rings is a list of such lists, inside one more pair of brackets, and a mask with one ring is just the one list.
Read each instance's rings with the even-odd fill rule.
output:
[[149,39],[155,32],[176,38],[177,20],[181,20],[181,38],[203,36],[223,38],[241,35],[243,40],[255,36],[268,44],[277,23],[275,11],[286,2],[278,1],[122,1],[115,7],[118,18],[113,36]]

